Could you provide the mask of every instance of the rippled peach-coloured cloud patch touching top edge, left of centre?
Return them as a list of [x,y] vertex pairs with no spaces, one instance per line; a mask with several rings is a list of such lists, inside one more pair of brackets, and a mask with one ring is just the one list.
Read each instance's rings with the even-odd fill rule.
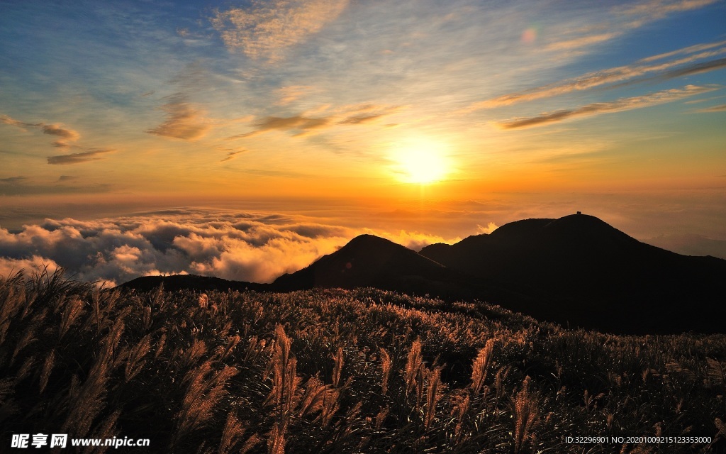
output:
[[216,12],[211,23],[227,49],[274,61],[288,47],[321,31],[347,6],[348,0],[253,0],[246,8]]

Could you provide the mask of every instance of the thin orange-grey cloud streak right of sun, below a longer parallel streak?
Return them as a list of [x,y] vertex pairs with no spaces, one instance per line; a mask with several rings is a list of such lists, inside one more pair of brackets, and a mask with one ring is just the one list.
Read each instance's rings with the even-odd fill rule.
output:
[[681,89],[662,90],[661,92],[645,94],[643,96],[621,98],[619,100],[609,102],[593,102],[592,104],[584,105],[579,108],[543,113],[536,117],[512,118],[507,121],[500,121],[496,123],[496,125],[501,129],[520,129],[531,128],[533,126],[544,126],[550,123],[568,120],[570,118],[647,108],[652,105],[682,100],[685,97],[710,92],[712,90],[714,90],[714,88],[709,86],[687,85]]

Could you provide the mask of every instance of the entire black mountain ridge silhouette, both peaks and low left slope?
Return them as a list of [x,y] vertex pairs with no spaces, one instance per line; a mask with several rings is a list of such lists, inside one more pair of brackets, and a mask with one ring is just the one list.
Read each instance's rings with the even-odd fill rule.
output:
[[615,333],[725,332],[726,260],[682,256],[595,216],[526,219],[417,254],[361,235],[272,284],[140,277],[126,288],[295,291],[375,287],[480,299],[542,320]]

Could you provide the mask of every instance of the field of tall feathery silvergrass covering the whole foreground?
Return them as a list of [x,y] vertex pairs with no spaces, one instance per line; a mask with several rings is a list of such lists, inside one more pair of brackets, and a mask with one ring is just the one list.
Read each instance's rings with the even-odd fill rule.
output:
[[[726,336],[567,331],[371,288],[0,280],[3,452],[38,432],[148,438],[127,452],[158,453],[718,452],[725,373]],[[567,438],[630,436],[711,442]]]

